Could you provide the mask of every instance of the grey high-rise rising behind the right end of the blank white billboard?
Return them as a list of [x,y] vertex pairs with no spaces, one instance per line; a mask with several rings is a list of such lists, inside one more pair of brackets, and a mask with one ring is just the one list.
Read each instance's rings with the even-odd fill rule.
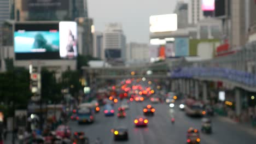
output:
[[178,16],[178,28],[188,26],[188,4],[184,1],[178,1],[174,13]]

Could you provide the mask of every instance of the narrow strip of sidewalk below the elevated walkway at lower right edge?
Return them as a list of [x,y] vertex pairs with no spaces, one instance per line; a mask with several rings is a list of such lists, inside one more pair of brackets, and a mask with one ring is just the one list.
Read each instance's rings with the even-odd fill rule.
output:
[[219,121],[234,124],[241,131],[245,131],[249,135],[256,137],[256,127],[252,127],[251,123],[239,123],[239,122],[236,122],[234,119],[231,119],[231,118],[225,117],[225,116],[219,116],[219,115],[216,115],[216,118]]

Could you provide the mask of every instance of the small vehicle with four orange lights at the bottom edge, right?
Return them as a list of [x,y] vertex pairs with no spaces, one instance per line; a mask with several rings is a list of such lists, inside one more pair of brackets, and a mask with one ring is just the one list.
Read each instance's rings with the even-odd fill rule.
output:
[[194,128],[189,128],[187,133],[187,143],[189,144],[197,144],[200,143],[200,135],[199,131]]

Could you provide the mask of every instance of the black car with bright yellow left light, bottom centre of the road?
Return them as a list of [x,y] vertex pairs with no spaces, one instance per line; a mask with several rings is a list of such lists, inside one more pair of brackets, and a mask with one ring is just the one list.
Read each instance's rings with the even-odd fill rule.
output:
[[128,140],[128,129],[119,127],[111,130],[114,133],[114,140]]

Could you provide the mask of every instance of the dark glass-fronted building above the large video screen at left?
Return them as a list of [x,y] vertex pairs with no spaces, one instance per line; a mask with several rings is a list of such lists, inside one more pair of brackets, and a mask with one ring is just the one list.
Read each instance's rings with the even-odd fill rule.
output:
[[88,17],[86,0],[30,1],[13,0],[17,21],[61,21]]

